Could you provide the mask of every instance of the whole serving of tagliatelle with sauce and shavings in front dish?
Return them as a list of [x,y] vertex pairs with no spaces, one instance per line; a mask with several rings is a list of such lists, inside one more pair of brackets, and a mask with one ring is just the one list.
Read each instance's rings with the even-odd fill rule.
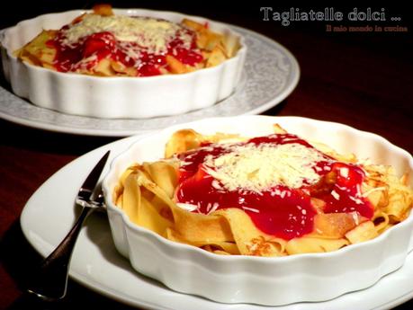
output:
[[130,220],[217,254],[330,252],[409,216],[408,176],[274,125],[274,134],[176,131],[165,158],[131,165],[113,192]]

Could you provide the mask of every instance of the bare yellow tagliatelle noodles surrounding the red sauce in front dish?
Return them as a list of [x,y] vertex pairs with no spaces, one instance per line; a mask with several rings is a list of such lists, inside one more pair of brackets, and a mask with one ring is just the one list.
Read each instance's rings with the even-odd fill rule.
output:
[[[274,132],[287,133],[279,125],[274,125]],[[316,211],[312,231],[290,240],[265,234],[240,208],[221,208],[202,214],[175,202],[179,162],[174,155],[204,143],[245,140],[246,137],[232,134],[201,135],[192,129],[179,130],[166,144],[166,159],[131,165],[121,175],[113,191],[113,201],[139,226],[174,242],[222,255],[284,256],[336,251],[371,240],[409,215],[413,194],[407,177],[400,179],[390,167],[373,164],[363,166],[366,177],[362,184],[363,197],[369,199],[374,208],[372,218],[362,217],[356,211],[324,213],[326,202],[311,198]],[[328,146],[312,145],[337,161],[356,163],[355,155],[340,155]],[[334,175],[326,180],[336,182]]]

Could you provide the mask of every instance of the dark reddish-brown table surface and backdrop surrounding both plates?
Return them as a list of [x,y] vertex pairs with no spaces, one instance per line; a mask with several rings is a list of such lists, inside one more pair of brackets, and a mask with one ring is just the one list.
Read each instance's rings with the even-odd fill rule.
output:
[[[128,1],[112,3],[118,7],[137,6]],[[10,11],[13,13],[3,12],[0,16],[0,28],[39,13],[89,8],[91,4],[75,1],[65,6],[37,1],[36,6],[14,5],[14,11]],[[300,82],[282,104],[263,114],[341,122],[372,131],[413,152],[411,29],[407,32],[328,32],[326,25],[331,22],[324,21],[292,22],[290,26],[282,26],[280,22],[263,21],[259,4],[237,7],[214,4],[198,8],[171,3],[154,6],[143,1],[139,6],[200,14],[234,23],[260,32],[290,49],[301,66]],[[274,11],[289,8],[274,7]],[[346,12],[353,7],[337,7],[339,9]],[[310,7],[301,10],[308,11]],[[407,25],[409,16],[405,8],[385,7],[385,11],[388,22],[370,22],[370,25],[394,25],[397,22],[390,21],[391,15],[401,16],[399,24]],[[350,22],[332,24],[348,26]],[[95,308],[129,309],[71,280],[67,299],[55,304],[37,303],[22,295],[21,290],[28,270],[40,261],[22,235],[19,217],[24,204],[58,169],[116,138],[48,132],[5,120],[0,120],[0,130],[0,308],[72,309],[93,305]],[[413,302],[401,307],[412,308]]]

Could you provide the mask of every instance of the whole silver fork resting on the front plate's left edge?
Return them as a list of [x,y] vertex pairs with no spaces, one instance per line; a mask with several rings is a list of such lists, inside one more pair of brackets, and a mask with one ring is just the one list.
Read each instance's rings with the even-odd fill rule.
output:
[[[110,153],[111,151],[107,151],[103,155],[80,187],[76,196],[76,204],[83,207],[82,213],[58,247],[41,262],[39,270],[33,272],[27,288],[29,293],[48,301],[66,296],[70,258],[82,224],[95,209],[104,208],[102,189],[96,187]],[[95,191],[98,191],[98,194],[94,195]]]

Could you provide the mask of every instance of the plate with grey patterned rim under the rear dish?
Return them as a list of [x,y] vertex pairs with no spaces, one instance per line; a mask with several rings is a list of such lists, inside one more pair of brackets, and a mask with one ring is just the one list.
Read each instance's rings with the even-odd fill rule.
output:
[[[94,136],[130,136],[143,131],[214,116],[258,114],[282,102],[297,85],[300,67],[290,51],[254,31],[230,26],[247,44],[241,81],[229,98],[217,104],[176,116],[139,120],[108,120],[63,114],[37,107],[0,85],[0,118],[46,130]],[[0,33],[1,35],[1,33]]]

